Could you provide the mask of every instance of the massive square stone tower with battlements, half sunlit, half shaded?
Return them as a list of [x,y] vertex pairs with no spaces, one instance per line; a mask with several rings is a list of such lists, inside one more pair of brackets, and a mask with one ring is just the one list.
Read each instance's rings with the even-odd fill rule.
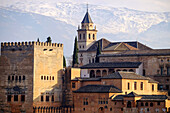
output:
[[0,58],[1,111],[32,113],[61,106],[62,44],[1,43]]

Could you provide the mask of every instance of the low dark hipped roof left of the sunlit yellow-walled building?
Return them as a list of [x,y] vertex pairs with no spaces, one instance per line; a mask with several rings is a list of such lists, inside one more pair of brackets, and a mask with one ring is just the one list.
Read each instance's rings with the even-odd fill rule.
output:
[[122,91],[113,85],[86,85],[74,93],[121,93]]

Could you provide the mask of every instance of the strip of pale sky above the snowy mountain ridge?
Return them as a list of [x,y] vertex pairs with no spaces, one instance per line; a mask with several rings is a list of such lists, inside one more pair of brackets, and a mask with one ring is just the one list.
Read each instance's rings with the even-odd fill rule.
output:
[[0,6],[5,4],[23,2],[77,2],[88,3],[102,6],[112,7],[126,7],[135,10],[149,11],[149,12],[170,12],[170,0],[0,0]]

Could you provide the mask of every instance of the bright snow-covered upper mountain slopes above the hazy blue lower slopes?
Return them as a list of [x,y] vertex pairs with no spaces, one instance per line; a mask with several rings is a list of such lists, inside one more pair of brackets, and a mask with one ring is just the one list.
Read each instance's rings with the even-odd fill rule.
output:
[[[9,3],[1,7],[49,16],[73,26],[80,24],[86,12],[86,4],[27,2],[29,1]],[[170,13],[143,12],[97,5],[90,5],[89,13],[97,28],[103,33],[141,33],[152,25],[170,20]]]

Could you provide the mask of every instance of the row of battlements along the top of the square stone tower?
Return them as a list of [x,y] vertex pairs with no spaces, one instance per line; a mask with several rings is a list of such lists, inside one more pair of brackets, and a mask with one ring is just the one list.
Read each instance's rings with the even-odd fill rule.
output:
[[1,42],[2,47],[15,47],[15,46],[51,46],[51,47],[63,47],[61,43],[47,43],[47,42]]

